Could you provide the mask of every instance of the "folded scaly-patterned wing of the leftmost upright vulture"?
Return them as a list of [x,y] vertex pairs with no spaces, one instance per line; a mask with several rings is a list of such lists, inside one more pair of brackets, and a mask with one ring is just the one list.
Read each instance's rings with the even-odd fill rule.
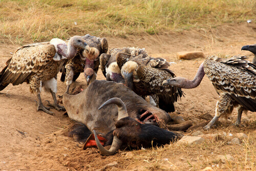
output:
[[38,72],[43,72],[56,53],[49,42],[25,45],[17,49],[7,66],[1,71],[0,85],[12,83],[13,86],[27,81]]

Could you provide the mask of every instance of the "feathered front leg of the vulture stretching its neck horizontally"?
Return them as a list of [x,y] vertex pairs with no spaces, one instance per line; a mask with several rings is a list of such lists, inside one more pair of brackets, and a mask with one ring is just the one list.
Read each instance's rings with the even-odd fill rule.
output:
[[[211,121],[203,127],[204,130],[211,129],[212,125],[222,116],[224,115],[226,118],[233,111],[233,101],[232,98],[225,93],[221,93],[219,100],[216,104],[215,117],[211,119]],[[242,114],[241,114],[242,115]]]

